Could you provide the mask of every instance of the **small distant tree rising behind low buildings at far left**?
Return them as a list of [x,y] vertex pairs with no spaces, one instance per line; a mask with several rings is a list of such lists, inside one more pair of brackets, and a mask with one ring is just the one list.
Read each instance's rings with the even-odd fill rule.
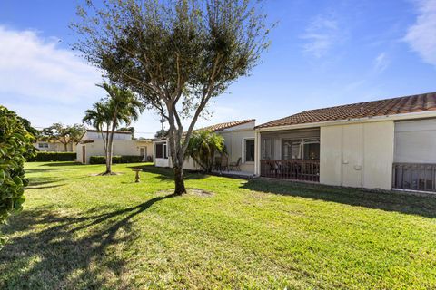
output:
[[84,125],[74,124],[72,126],[63,123],[54,123],[41,131],[43,140],[55,140],[64,145],[64,151],[68,151],[68,144],[79,141],[84,133]]

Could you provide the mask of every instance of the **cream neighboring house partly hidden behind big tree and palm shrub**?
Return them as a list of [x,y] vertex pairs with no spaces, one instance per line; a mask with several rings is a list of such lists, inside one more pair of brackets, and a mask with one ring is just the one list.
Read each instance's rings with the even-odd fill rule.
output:
[[[254,125],[255,120],[230,121],[202,128],[223,136],[229,162],[237,162],[241,158],[241,170],[254,173]],[[170,167],[169,148],[165,138],[154,140],[154,165]],[[184,169],[200,169],[193,160],[185,160]]]

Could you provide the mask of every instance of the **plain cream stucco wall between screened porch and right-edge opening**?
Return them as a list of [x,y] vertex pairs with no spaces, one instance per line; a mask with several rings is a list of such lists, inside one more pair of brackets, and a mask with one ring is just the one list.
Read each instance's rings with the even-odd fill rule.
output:
[[394,122],[321,127],[320,182],[391,189]]

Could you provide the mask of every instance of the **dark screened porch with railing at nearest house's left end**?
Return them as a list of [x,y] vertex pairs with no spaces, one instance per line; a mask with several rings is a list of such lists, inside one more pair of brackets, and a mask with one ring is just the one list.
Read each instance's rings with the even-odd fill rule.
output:
[[261,133],[262,177],[320,181],[320,129]]

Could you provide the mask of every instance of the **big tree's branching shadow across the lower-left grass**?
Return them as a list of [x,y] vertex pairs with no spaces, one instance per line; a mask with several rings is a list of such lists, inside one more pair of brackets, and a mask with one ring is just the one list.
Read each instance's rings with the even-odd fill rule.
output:
[[111,253],[127,249],[137,237],[132,218],[173,197],[156,197],[99,215],[94,213],[102,208],[79,216],[64,216],[50,207],[24,211],[2,230],[6,236],[16,236],[0,250],[0,288],[129,288],[121,279],[128,271],[126,261]]

